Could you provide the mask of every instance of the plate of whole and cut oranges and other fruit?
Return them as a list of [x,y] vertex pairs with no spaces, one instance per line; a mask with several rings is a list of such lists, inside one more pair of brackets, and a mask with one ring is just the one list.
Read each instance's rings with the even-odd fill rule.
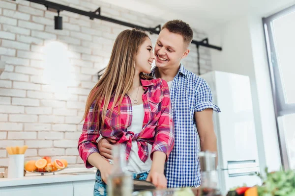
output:
[[40,173],[44,175],[44,173],[53,173],[59,172],[67,167],[67,161],[64,159],[55,159],[51,160],[51,157],[44,156],[39,160],[30,160],[27,161],[24,165],[24,169],[26,172]]

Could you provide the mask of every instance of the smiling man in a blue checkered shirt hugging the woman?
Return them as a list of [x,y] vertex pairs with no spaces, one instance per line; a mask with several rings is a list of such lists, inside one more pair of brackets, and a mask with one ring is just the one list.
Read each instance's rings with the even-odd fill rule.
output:
[[[166,164],[168,188],[199,186],[198,153],[200,150],[217,153],[212,116],[213,111],[220,110],[212,103],[207,82],[180,63],[188,55],[192,39],[193,31],[188,24],[169,21],[163,25],[154,51],[156,67],[151,76],[168,82],[175,124],[175,146]],[[99,141],[102,156],[112,158],[111,143],[105,139]]]

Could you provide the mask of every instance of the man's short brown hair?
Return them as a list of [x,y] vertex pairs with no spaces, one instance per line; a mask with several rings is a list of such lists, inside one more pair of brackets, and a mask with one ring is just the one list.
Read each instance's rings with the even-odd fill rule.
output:
[[164,28],[167,28],[172,33],[181,35],[183,37],[184,43],[186,43],[187,46],[193,40],[192,28],[187,23],[181,20],[168,21],[167,23],[163,25],[161,30],[163,30]]

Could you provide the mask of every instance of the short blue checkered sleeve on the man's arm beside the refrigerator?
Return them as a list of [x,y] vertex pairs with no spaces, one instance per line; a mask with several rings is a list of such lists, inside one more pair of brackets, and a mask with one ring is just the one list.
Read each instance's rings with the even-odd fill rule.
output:
[[195,92],[195,112],[201,112],[207,108],[212,108],[215,112],[220,112],[220,109],[217,105],[213,104],[213,96],[211,89],[206,82],[202,80],[199,88]]

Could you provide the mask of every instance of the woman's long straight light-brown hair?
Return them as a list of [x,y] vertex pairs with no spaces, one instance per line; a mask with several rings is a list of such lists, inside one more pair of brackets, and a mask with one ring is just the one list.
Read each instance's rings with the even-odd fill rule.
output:
[[[97,127],[98,125],[102,126],[104,124],[107,107],[113,96],[114,102],[111,112],[117,102],[118,106],[120,106],[124,95],[132,87],[135,75],[136,55],[139,47],[147,38],[149,37],[144,31],[137,29],[128,29],[119,33],[105,73],[89,93],[82,121],[87,117],[93,101],[96,101],[93,108],[93,116],[97,118]],[[151,79],[143,73],[140,73],[140,77]],[[102,117],[100,117],[100,106],[102,106]],[[94,122],[94,118],[91,123]]]

